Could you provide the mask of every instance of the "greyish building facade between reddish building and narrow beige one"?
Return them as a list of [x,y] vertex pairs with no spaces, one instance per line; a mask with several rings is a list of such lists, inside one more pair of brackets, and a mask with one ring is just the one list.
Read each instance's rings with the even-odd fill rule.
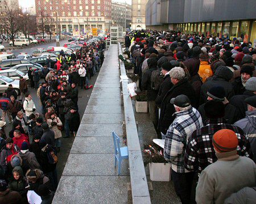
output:
[[112,25],[115,27],[130,28],[131,5],[127,3],[112,2]]

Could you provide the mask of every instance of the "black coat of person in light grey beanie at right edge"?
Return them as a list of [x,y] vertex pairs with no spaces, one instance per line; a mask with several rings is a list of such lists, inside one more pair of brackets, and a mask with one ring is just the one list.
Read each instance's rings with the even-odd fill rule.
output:
[[237,107],[238,111],[240,111],[242,118],[245,117],[245,112],[247,111],[247,104],[245,103],[245,99],[251,96],[255,96],[255,94],[246,90],[242,95],[233,96],[229,100],[229,103]]

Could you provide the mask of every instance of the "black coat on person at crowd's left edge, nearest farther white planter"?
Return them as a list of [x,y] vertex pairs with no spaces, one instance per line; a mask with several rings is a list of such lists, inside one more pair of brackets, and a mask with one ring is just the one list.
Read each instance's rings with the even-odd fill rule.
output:
[[155,100],[156,96],[158,94],[158,90],[152,90],[151,88],[151,74],[152,71],[156,70],[156,67],[151,67],[150,69],[146,70],[145,73],[142,76],[142,81],[141,81],[141,89],[142,91],[145,90],[147,91],[147,100]]

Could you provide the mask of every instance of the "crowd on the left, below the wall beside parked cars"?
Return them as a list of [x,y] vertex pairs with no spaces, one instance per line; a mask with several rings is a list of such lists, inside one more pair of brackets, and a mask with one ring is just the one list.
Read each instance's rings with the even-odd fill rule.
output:
[[[20,77],[19,96],[11,85],[2,94],[0,203],[27,203],[28,190],[41,196],[43,203],[51,203],[58,184],[60,138],[75,137],[79,129],[79,87],[92,88],[90,78],[100,71],[104,49],[105,42],[99,40],[71,55],[61,51],[55,69],[30,67],[29,82]],[[32,88],[38,105],[32,100]]]

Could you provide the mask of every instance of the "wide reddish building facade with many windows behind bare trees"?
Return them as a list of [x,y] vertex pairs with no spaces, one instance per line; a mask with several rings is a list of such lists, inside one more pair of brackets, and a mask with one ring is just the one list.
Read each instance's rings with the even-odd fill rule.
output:
[[111,0],[35,0],[37,20],[49,16],[61,32],[109,32],[112,25]]

